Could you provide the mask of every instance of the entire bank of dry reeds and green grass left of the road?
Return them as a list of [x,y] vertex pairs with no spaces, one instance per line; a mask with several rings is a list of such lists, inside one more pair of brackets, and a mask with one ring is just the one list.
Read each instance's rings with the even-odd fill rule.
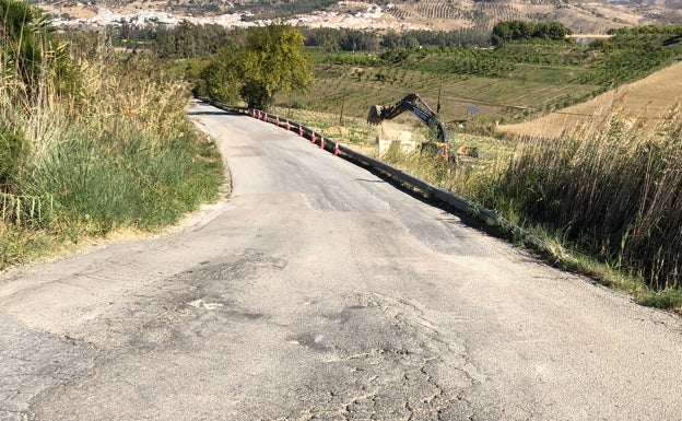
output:
[[216,198],[222,161],[187,85],[106,37],[66,43],[25,2],[0,14],[0,269]]

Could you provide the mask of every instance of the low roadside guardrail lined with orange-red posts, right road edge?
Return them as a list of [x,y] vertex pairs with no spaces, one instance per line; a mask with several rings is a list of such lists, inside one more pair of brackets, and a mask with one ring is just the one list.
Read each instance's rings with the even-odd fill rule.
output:
[[231,112],[248,115],[252,118],[258,118],[266,122],[270,122],[272,125],[277,125],[285,130],[293,131],[301,136],[302,138],[306,138],[310,140],[310,142],[319,144],[321,149],[325,149],[336,155],[339,155],[348,161],[360,163],[363,166],[373,168],[378,171],[386,176],[390,177],[392,180],[400,183],[401,185],[409,187],[410,189],[419,192],[421,196],[434,199],[439,202],[443,202],[458,212],[465,213],[469,217],[472,217],[484,224],[502,230],[515,238],[524,242],[527,245],[531,245],[540,250],[546,250],[546,244],[538,238],[537,236],[528,233],[526,230],[522,230],[516,224],[513,224],[507,219],[501,217],[497,212],[490,210],[487,208],[482,207],[469,199],[466,199],[459,195],[456,195],[451,191],[448,191],[444,188],[434,186],[431,183],[426,183],[421,178],[418,178],[411,174],[408,174],[401,169],[398,169],[391,165],[386,164],[385,162],[375,160],[371,156],[363,155],[362,153],[357,153],[346,147],[339,144],[337,141],[325,137],[322,133],[317,132],[299,122],[290,120],[287,118],[280,118],[275,114],[266,113],[260,109],[252,109],[246,107],[236,107],[227,104],[223,104],[220,102],[215,102],[208,98],[199,98],[208,104],[213,105],[216,108]]

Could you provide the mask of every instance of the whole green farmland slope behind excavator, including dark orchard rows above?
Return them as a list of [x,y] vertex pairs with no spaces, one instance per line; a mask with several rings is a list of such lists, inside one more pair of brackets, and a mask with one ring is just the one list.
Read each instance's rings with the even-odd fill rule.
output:
[[[672,39],[672,42],[671,42]],[[315,83],[280,96],[280,107],[364,117],[418,93],[440,117],[471,127],[519,122],[589,100],[640,79],[682,57],[670,34],[616,35],[593,44],[509,44],[501,48],[426,47],[416,50],[326,54],[309,48]],[[468,113],[468,107],[477,113]]]

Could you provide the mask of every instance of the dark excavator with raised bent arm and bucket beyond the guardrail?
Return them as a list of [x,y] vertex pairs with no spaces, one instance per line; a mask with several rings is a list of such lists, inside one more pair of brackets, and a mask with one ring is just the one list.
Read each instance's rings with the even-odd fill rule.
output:
[[438,115],[434,113],[418,94],[408,94],[404,98],[391,106],[373,105],[369,107],[367,122],[371,125],[379,125],[381,121],[390,120],[404,112],[412,112],[422,122],[435,131],[436,141],[422,143],[422,152],[435,150],[434,152],[449,160],[450,136],[448,135],[447,127],[440,121]]

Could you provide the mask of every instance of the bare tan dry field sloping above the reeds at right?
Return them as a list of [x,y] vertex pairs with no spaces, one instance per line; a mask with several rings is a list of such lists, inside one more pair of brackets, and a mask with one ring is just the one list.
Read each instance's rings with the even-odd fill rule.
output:
[[[637,82],[605,92],[588,102],[573,105],[536,120],[498,126],[497,131],[553,139],[600,127],[613,113],[643,127],[654,127],[668,118],[682,102],[682,62]],[[679,118],[679,117],[678,117]]]

